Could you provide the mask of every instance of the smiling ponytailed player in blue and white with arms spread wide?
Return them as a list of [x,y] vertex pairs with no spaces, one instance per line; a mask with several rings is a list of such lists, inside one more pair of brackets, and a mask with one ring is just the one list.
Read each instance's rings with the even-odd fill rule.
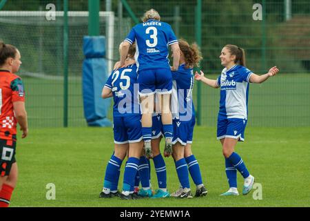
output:
[[217,139],[223,146],[226,175],[229,190],[222,195],[239,195],[237,189],[237,170],[245,178],[242,194],[251,191],[254,176],[250,175],[240,155],[234,152],[238,141],[244,141],[245,126],[247,125],[247,100],[249,83],[262,83],[278,73],[275,66],[265,75],[256,75],[245,67],[245,51],[235,45],[226,45],[220,54],[221,64],[225,67],[217,80],[196,73],[198,81],[220,88],[220,111],[218,113]]

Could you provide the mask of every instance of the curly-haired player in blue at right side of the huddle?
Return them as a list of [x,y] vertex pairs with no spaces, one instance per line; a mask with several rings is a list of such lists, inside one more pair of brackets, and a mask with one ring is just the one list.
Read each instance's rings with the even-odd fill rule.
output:
[[[189,186],[189,173],[196,184],[195,196],[207,195],[203,184],[199,164],[192,153],[192,140],[195,126],[195,111],[192,97],[194,88],[194,66],[203,59],[196,44],[189,46],[187,41],[180,39],[180,66],[172,71],[172,117],[174,126],[173,157],[176,165],[180,189],[172,193],[176,198],[192,198]],[[188,173],[189,172],[189,173]]]

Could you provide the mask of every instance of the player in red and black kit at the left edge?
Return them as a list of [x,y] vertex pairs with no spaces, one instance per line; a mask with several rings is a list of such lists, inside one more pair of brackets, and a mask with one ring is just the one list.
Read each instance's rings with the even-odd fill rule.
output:
[[21,66],[21,54],[17,48],[0,42],[0,207],[8,207],[17,183],[15,149],[17,122],[28,135],[25,91],[17,73]]

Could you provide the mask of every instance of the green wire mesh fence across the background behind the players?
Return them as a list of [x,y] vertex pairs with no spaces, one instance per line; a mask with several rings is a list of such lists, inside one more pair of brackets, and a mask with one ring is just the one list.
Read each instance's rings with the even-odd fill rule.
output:
[[[1,11],[46,12],[48,3],[54,3],[56,10],[63,10],[62,0],[18,2],[7,1]],[[145,10],[154,8],[162,21],[172,25],[178,38],[189,42],[201,38],[204,59],[200,68],[210,78],[216,79],[223,68],[218,57],[225,44],[245,48],[247,67],[254,73],[267,73],[275,65],[280,68],[276,77],[263,84],[251,84],[250,126],[310,126],[309,1],[205,0],[201,1],[201,16],[197,11],[198,3],[189,0],[111,1],[114,21],[110,22],[111,17],[100,17],[100,34],[110,36],[113,31],[114,44],[108,58],[112,63],[118,59],[118,44],[134,25],[132,17],[139,19]],[[70,11],[87,11],[87,6],[87,0],[69,1]],[[259,6],[262,6],[262,14]],[[100,10],[106,8],[107,1],[101,1]],[[197,28],[197,21],[201,22],[201,30]],[[85,126],[81,73],[87,17],[69,17],[68,23],[68,126]],[[23,64],[19,74],[28,92],[30,126],[63,126],[63,18],[47,21],[42,16],[0,16],[0,29],[0,39],[21,50]],[[195,105],[202,125],[216,125],[219,93],[204,85],[198,91],[196,84]]]

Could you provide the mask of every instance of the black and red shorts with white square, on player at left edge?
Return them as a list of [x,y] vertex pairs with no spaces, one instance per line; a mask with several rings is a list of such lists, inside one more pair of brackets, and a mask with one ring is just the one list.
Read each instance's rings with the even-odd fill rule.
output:
[[10,174],[15,160],[16,141],[0,139],[0,176]]

